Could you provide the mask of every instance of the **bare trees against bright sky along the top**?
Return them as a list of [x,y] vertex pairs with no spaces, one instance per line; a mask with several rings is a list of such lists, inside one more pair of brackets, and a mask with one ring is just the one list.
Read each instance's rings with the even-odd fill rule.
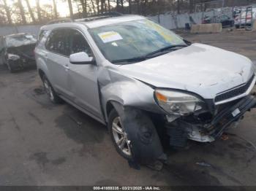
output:
[[[67,3],[70,17],[80,18],[105,12],[138,15],[194,12],[196,4],[213,0],[52,0],[51,4],[43,4],[43,0],[34,1],[36,6],[31,7],[31,0],[12,0],[12,6],[7,0],[0,0],[0,25],[42,24],[59,18],[59,1]],[[253,3],[256,3],[256,0],[224,0],[222,6],[234,7]],[[204,9],[206,8],[205,6]]]

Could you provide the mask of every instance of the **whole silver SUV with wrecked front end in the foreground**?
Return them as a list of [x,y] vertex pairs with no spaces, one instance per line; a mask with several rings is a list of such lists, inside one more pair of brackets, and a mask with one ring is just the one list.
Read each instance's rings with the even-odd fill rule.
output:
[[256,104],[252,61],[146,17],[49,24],[35,53],[50,100],[108,125],[118,153],[135,163],[165,160],[165,144],[214,141]]

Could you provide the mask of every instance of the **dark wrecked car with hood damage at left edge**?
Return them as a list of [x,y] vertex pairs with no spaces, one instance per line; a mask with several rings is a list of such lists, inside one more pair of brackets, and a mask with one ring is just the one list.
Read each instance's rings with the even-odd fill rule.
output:
[[0,37],[0,64],[10,72],[26,66],[36,66],[34,47],[37,39],[31,34],[12,34]]

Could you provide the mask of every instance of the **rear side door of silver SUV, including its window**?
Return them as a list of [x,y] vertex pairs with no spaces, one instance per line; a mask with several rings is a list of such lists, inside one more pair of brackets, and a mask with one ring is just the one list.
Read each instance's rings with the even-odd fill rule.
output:
[[68,83],[69,76],[69,41],[67,40],[67,28],[55,29],[50,33],[45,44],[45,58],[47,59],[51,84],[54,89],[72,100],[74,98]]

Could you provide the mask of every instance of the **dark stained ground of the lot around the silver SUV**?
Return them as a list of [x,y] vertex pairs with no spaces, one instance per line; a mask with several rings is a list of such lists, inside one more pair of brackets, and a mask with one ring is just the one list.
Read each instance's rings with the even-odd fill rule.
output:
[[[182,36],[256,61],[256,33]],[[162,171],[138,171],[116,153],[105,126],[51,104],[34,69],[9,74],[1,66],[0,106],[1,185],[256,185],[256,110],[226,141],[168,150]]]

